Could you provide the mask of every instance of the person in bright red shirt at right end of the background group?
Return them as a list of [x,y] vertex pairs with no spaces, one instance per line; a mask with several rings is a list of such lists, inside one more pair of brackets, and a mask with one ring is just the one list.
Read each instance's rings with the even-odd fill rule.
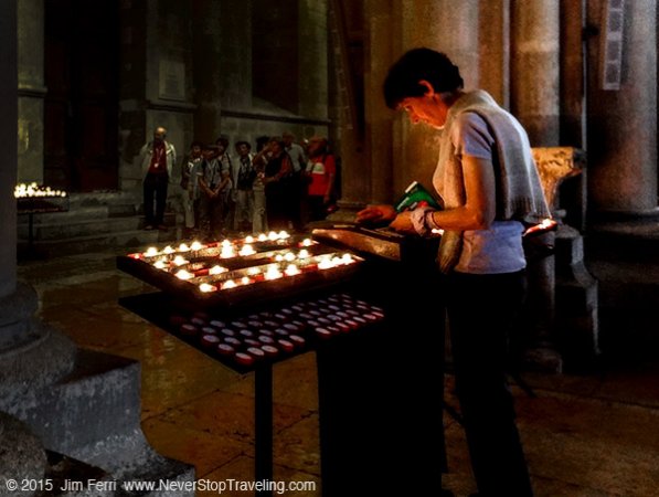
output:
[[305,176],[309,221],[320,221],[327,218],[328,208],[334,198],[337,165],[334,156],[329,151],[327,138],[315,136],[309,139],[308,155]]

